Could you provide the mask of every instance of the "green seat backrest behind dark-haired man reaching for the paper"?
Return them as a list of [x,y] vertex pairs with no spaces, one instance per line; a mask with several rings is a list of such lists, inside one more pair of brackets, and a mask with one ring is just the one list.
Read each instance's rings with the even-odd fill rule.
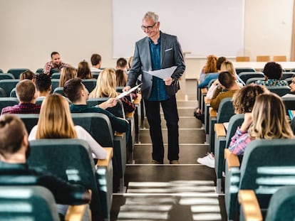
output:
[[113,129],[110,124],[110,119],[105,114],[101,113],[72,113],[73,122],[75,125],[80,125],[88,131],[93,139],[101,146],[114,146]]

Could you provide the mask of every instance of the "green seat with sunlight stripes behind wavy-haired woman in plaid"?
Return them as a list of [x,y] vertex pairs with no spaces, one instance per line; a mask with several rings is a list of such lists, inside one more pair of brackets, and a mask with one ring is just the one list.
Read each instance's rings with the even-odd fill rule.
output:
[[239,190],[254,190],[262,210],[267,209],[271,195],[285,185],[295,185],[294,139],[261,139],[251,141],[241,166],[225,168],[225,206],[228,220],[239,212]]

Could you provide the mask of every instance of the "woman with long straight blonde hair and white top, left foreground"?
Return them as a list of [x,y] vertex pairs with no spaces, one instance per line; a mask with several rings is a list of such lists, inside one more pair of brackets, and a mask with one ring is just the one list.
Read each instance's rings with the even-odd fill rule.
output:
[[48,95],[43,100],[38,124],[33,127],[29,140],[33,139],[71,139],[88,141],[93,158],[104,159],[106,151],[82,126],[74,126],[68,101],[61,95]]

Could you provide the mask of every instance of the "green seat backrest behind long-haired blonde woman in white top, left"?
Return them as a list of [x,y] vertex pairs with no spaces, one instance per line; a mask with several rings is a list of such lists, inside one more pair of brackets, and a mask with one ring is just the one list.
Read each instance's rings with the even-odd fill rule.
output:
[[[63,180],[73,180],[92,191],[91,212],[100,212],[98,179],[88,142],[81,139],[38,139],[30,141],[28,164]],[[54,163],[53,163],[54,162]]]

